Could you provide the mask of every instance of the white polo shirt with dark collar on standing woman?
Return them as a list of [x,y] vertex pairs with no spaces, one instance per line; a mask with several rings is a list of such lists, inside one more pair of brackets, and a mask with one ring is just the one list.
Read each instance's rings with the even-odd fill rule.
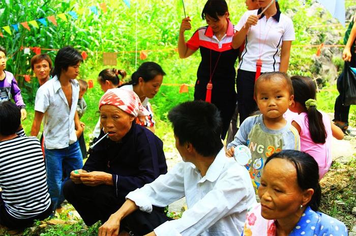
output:
[[[258,9],[245,12],[236,25],[236,29],[240,31],[249,16],[257,15],[257,12]],[[261,56],[261,72],[279,71],[282,43],[293,40],[295,40],[295,33],[290,18],[280,12],[268,20],[262,15],[257,25],[251,26],[247,33],[239,69],[256,72],[256,61]]]

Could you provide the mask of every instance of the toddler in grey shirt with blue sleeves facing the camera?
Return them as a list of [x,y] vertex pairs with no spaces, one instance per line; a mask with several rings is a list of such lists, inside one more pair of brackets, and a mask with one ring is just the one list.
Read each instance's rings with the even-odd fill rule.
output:
[[263,73],[255,83],[254,99],[261,114],[241,124],[234,141],[227,145],[226,155],[232,157],[238,145],[251,150],[252,159],[246,167],[257,189],[266,159],[283,149],[300,150],[300,140],[298,131],[283,118],[293,102],[293,87],[286,74]]

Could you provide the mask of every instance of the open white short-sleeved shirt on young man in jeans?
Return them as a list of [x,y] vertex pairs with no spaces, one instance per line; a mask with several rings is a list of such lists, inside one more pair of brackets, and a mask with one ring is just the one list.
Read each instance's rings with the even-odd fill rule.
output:
[[43,136],[47,149],[66,148],[77,141],[74,115],[79,97],[79,83],[71,80],[72,106],[56,76],[42,85],[36,93],[35,111],[44,113]]

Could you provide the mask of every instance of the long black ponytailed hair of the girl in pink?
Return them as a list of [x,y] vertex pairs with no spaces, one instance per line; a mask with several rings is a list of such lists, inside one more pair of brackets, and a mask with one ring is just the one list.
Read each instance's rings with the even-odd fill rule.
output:
[[316,107],[307,109],[305,102],[308,99],[316,99],[316,86],[313,80],[304,76],[292,76],[294,88],[294,101],[298,102],[305,109],[308,115],[310,137],[316,144],[324,144],[327,139],[327,130],[322,122],[322,114]]

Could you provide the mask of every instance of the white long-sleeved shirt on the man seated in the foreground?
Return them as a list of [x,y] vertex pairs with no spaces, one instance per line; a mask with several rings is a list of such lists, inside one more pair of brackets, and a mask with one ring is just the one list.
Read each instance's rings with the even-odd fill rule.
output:
[[151,213],[152,205],[164,207],[184,196],[188,210],[182,218],[155,228],[157,236],[241,235],[247,209],[256,203],[248,171],[227,158],[224,149],[204,177],[193,164],[181,162],[126,198],[141,211]]

